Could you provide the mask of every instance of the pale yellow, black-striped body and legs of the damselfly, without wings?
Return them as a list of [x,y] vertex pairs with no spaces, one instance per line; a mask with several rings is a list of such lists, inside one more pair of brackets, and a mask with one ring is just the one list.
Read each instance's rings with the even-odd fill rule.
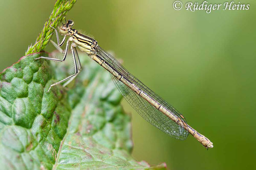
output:
[[[59,44],[59,46],[63,45],[63,43],[65,41],[65,38],[67,36],[70,36],[68,42],[73,41],[71,50],[73,52],[73,58],[74,58],[75,66],[76,66],[76,57],[75,57],[74,49],[75,49],[75,47],[78,47],[81,51],[84,51],[86,54],[88,54],[91,59],[96,61],[99,65],[101,65],[103,68],[108,70],[111,74],[113,74],[113,76],[116,77],[119,81],[121,81],[123,84],[128,86],[128,88],[130,88],[135,93],[137,93],[137,95],[141,96],[143,99],[145,99],[147,102],[149,102],[152,106],[154,106],[157,110],[159,110],[160,112],[162,112],[163,114],[168,116],[170,119],[172,119],[172,121],[177,123],[177,125],[179,125],[180,127],[184,128],[185,130],[187,130],[204,147],[206,147],[206,148],[213,147],[213,144],[212,144],[212,142],[209,141],[209,139],[207,139],[204,135],[198,133],[195,129],[193,129],[192,127],[187,125],[186,122],[184,122],[184,120],[182,120],[182,119],[184,119],[184,117],[181,114],[179,115],[180,117],[175,115],[175,113],[170,111],[168,109],[168,107],[166,108],[164,105],[161,105],[159,102],[157,102],[156,99],[152,98],[147,93],[142,91],[137,85],[135,85],[132,82],[130,82],[127,79],[127,77],[123,77],[125,75],[120,74],[122,71],[120,71],[120,73],[117,72],[116,70],[114,70],[114,68],[108,62],[104,61],[104,59],[101,59],[100,55],[97,54],[97,52],[99,50],[99,46],[97,44],[97,41],[94,40],[91,37],[88,37],[88,36],[84,35],[84,34],[78,33],[78,31],[76,29],[72,29],[71,28],[71,26],[73,26],[73,25],[74,25],[73,21],[68,20],[67,23],[64,24],[61,27],[60,32],[61,32],[61,34],[65,35],[65,37],[64,37],[63,41],[60,44],[59,44],[59,40],[58,40],[58,44]],[[56,34],[57,34],[57,37],[58,37],[57,31],[56,31]],[[67,43],[67,48],[68,48],[68,43]],[[67,48],[66,48],[65,56],[67,54]],[[106,54],[106,55],[108,55],[108,54]],[[105,56],[105,57],[107,57],[107,59],[111,59],[111,58],[108,58],[109,56]],[[49,59],[47,57],[43,57],[43,58]],[[64,59],[65,59],[65,57],[64,57]],[[51,60],[59,61],[58,59],[51,59]],[[113,58],[110,61],[113,61]],[[55,83],[53,85],[57,85],[57,84],[59,84],[61,82],[66,81],[67,79],[70,79],[69,80],[69,82],[70,82],[77,74],[78,74],[78,70],[76,68],[76,74],[74,74],[74,75],[72,75],[70,77],[67,77],[66,79],[63,79],[63,80],[61,80],[61,81],[59,81],[59,82],[57,82],[57,83]],[[72,77],[72,79],[71,79],[71,77]],[[51,85],[51,86],[53,86],[53,85]]]

